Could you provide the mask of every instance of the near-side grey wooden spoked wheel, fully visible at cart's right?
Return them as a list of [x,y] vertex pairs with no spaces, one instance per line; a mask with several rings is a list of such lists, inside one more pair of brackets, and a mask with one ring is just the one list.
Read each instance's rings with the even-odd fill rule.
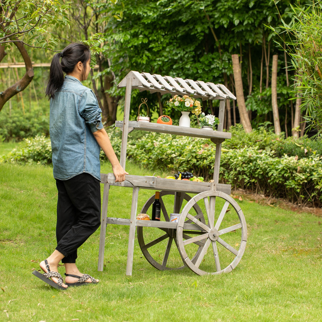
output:
[[[190,214],[198,201],[204,202],[206,224],[195,220]],[[199,230],[203,229],[198,236],[191,239],[185,238],[187,232],[183,230],[187,219],[193,221]],[[204,275],[230,272],[241,260],[246,241],[244,214],[228,194],[205,191],[195,195],[183,208],[177,225],[178,250],[185,265],[195,273]],[[203,247],[194,256],[195,242],[202,242]]]

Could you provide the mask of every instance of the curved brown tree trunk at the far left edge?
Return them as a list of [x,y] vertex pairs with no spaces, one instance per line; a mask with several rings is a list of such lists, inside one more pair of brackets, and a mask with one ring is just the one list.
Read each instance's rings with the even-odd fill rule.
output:
[[[5,105],[5,102],[7,102],[10,98],[12,98],[17,93],[23,91],[30,84],[34,75],[33,65],[31,63],[28,52],[24,48],[24,44],[21,42],[14,42],[14,44],[16,45],[16,47],[21,53],[22,58],[24,59],[26,73],[24,74],[22,79],[18,80],[14,85],[0,92],[0,111]],[[0,55],[2,56],[2,58],[4,57],[4,49],[0,49]]]

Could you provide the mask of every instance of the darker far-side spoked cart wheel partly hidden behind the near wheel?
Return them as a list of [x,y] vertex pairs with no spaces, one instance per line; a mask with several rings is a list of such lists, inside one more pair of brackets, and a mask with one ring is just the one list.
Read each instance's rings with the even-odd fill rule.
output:
[[[149,208],[152,209],[152,203],[155,196],[151,196],[141,209],[141,213],[148,213]],[[170,213],[180,213],[182,205],[185,201],[189,201],[191,197],[185,193],[174,191],[160,191],[161,203],[161,221],[169,221]],[[205,223],[204,215],[197,204],[192,206],[192,217],[194,220]],[[191,220],[188,220],[191,223]],[[192,232],[194,233],[194,232]],[[189,239],[189,235],[183,234],[182,238]],[[178,252],[178,244],[176,238],[176,229],[166,229],[157,227],[140,227],[137,226],[137,240],[139,242],[142,254],[147,261],[158,270],[174,270],[183,269],[182,259]],[[171,246],[175,244],[176,247]],[[200,242],[196,247],[194,255],[199,255],[202,250]]]

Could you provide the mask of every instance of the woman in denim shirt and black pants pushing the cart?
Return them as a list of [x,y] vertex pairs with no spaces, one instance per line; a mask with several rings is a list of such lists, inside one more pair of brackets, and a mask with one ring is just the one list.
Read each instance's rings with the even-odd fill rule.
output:
[[[89,72],[89,47],[72,43],[53,57],[46,88],[58,190],[57,247],[40,263],[45,274],[33,274],[57,289],[98,282],[78,270],[76,258],[77,249],[100,225],[100,148],[112,165],[116,182],[124,181],[128,174],[120,166],[102,125],[94,93],[81,84]],[[65,283],[58,273],[60,261],[65,265]]]

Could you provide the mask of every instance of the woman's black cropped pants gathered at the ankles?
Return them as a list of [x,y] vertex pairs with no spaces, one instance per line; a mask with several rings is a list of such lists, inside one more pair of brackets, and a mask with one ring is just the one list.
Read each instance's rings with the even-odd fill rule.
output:
[[100,225],[100,182],[88,173],[56,179],[58,190],[56,250],[63,263],[75,263],[77,249]]

